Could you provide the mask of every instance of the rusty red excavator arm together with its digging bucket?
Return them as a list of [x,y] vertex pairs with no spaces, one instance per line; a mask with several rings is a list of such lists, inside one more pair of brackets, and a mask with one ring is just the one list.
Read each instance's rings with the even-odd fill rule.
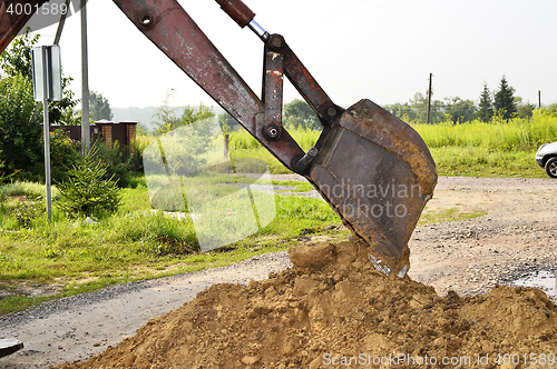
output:
[[[268,34],[242,1],[216,1],[238,26],[247,26],[264,42],[261,98],[176,0],[114,0],[177,67],[285,167],[317,189],[353,237],[369,245],[369,259],[377,269],[404,276],[408,241],[437,183],[436,166],[421,137],[370,100],[348,109],[336,106],[282,36]],[[0,0],[2,11],[4,4]],[[3,50],[26,20],[4,18],[6,11],[0,14]],[[282,127],[284,76],[323,124],[307,152]]]

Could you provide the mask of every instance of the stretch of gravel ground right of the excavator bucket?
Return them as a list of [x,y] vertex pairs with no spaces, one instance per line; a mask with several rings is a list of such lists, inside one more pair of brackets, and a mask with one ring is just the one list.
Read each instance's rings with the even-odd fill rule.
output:
[[[538,271],[557,271],[557,181],[441,178],[430,209],[486,216],[419,227],[409,242],[410,277],[438,293],[486,293]],[[555,275],[554,275],[555,276]],[[555,298],[555,279],[553,291]]]

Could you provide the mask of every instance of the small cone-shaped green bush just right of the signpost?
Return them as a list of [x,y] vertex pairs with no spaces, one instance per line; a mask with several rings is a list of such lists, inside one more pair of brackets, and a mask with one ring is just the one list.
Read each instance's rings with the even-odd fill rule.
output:
[[97,152],[95,146],[68,171],[68,179],[58,183],[60,199],[56,206],[69,217],[114,213],[120,206],[117,181],[114,177],[105,178],[108,166],[96,158]]

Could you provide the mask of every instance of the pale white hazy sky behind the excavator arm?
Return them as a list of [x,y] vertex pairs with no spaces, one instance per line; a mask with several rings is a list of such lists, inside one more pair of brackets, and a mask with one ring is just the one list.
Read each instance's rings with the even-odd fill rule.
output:
[[[240,29],[215,1],[180,0],[202,30],[260,93],[262,41]],[[245,0],[256,21],[281,33],[333,101],[379,104],[433,98],[478,100],[505,74],[532,103],[557,102],[556,0]],[[89,0],[89,87],[113,107],[213,104],[110,0]],[[50,44],[56,26],[42,29]],[[79,17],[60,41],[62,66],[80,94]],[[286,83],[287,84],[287,83]],[[285,101],[297,97],[289,86]]]

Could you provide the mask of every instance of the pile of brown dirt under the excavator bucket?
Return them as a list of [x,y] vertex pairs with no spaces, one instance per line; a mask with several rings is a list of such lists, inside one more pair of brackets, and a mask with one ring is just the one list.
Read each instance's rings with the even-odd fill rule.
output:
[[60,368],[555,367],[557,308],[539,290],[441,298],[378,272],[363,243],[289,253],[293,268],[247,287],[212,286],[117,347]]

